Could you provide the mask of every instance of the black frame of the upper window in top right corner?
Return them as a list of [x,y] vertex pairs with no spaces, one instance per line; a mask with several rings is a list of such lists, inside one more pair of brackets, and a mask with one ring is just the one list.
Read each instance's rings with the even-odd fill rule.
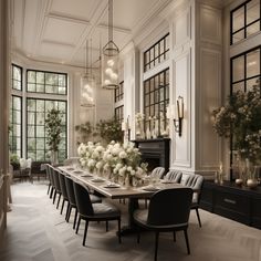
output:
[[[240,6],[238,6],[237,8],[234,8],[233,10],[230,11],[230,45],[238,43],[240,41],[242,41],[243,39],[247,39],[249,35],[247,35],[247,30],[249,27],[251,27],[252,24],[259,22],[259,31],[261,31],[261,1],[260,1],[260,8],[259,8],[259,19],[255,19],[254,21],[247,23],[247,6],[248,3],[250,3],[252,0],[248,0],[243,3],[241,3]],[[238,29],[237,31],[233,32],[233,13],[236,11],[238,11],[239,9],[243,8],[243,27]],[[237,34],[238,32],[243,31],[243,39],[239,40],[237,42],[233,42],[233,35]],[[252,34],[250,34],[252,35]]]

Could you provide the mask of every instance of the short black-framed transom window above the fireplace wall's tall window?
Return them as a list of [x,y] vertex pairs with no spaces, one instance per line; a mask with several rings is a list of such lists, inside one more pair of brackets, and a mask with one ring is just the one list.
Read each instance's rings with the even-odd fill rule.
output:
[[144,52],[144,72],[157,66],[169,56],[169,33]]

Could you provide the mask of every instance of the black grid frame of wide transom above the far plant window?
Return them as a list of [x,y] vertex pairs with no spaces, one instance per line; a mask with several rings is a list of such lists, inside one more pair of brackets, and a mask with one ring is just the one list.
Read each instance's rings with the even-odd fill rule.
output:
[[[43,85],[44,92],[36,92],[36,84],[38,84],[38,82],[36,82],[36,75],[35,75],[35,82],[29,82],[29,76],[28,76],[29,72],[35,72],[35,74],[36,74],[36,73],[43,73],[43,74],[44,74],[44,83],[43,83],[43,84],[40,84],[40,85]],[[65,77],[65,85],[64,85],[64,87],[65,87],[65,93],[46,92],[46,85],[49,85],[49,84],[46,84],[46,76],[45,76],[46,74],[56,74],[58,77],[59,77],[59,75],[63,75],[63,76]],[[61,96],[66,96],[66,95],[67,95],[67,73],[28,69],[28,70],[27,70],[25,79],[27,79],[27,92],[28,92],[28,93],[40,93],[40,94],[61,95]],[[35,84],[35,91],[29,91],[29,84]],[[58,83],[58,85],[54,85],[54,86],[59,87],[60,85],[59,85],[59,83]]]

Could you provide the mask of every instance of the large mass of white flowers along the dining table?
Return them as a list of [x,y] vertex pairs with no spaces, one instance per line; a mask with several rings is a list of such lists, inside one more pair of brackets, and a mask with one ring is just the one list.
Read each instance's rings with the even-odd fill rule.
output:
[[109,174],[114,181],[133,185],[146,176],[147,164],[142,163],[138,148],[133,143],[119,144],[111,142],[106,149],[101,144],[88,142],[77,148],[81,166],[93,173],[95,169]]

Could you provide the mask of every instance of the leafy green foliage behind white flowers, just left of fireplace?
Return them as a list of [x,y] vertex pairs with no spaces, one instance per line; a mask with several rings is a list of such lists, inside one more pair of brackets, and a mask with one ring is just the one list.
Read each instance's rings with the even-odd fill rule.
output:
[[97,135],[100,135],[107,144],[112,140],[123,142],[122,126],[115,118],[107,121],[100,121],[96,125]]

